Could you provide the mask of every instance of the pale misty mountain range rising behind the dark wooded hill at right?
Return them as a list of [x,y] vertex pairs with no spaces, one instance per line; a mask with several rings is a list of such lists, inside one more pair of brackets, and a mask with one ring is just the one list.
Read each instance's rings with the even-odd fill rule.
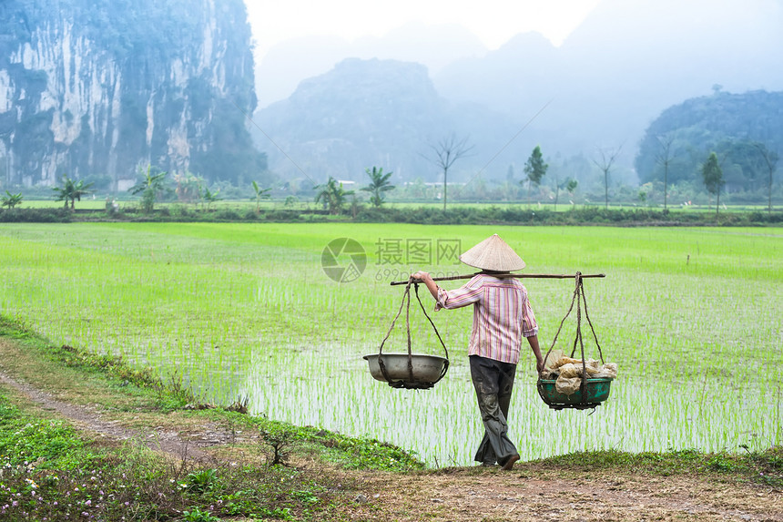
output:
[[783,88],[783,6],[768,0],[605,0],[566,38],[517,36],[482,58],[433,76],[438,92],[514,118],[553,99],[531,125],[544,151],[573,154],[624,144],[630,164],[649,122],[716,84]]

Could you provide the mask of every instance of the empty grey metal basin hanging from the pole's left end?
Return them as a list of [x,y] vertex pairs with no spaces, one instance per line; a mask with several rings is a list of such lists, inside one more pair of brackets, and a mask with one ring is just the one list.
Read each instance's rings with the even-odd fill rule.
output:
[[370,374],[379,381],[401,388],[432,386],[432,384],[437,383],[441,379],[449,363],[445,357],[439,355],[412,353],[411,372],[408,368],[408,353],[383,353],[381,357],[389,379],[387,380],[381,372],[381,365],[378,363],[378,353],[364,356],[364,359],[370,363]]

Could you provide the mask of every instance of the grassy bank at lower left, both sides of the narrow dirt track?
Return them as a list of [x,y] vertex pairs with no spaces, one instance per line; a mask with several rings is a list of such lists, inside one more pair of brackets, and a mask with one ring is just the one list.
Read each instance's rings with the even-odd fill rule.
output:
[[200,404],[176,378],[53,346],[2,318],[0,352],[4,373],[76,404],[97,404],[121,424],[182,430],[207,423],[238,434],[210,448],[216,458],[206,462],[161,458],[144,440],[120,444],[79,431],[0,385],[0,519],[339,520],[361,490],[341,468],[423,467],[380,441]]

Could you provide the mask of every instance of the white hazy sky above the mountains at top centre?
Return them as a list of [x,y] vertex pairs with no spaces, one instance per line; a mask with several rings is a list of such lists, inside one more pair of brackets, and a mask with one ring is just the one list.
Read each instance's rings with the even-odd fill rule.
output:
[[599,0],[246,0],[256,56],[299,36],[382,36],[409,22],[459,24],[489,49],[538,31],[554,45],[579,25]]

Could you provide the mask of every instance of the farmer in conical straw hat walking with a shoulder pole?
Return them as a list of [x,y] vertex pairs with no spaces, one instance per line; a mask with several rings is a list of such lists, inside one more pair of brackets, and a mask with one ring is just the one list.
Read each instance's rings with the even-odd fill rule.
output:
[[484,424],[484,436],[475,460],[483,466],[514,468],[519,452],[506,435],[508,406],[522,338],[533,349],[538,371],[544,359],[538,346],[538,325],[523,284],[509,275],[524,268],[524,261],[497,234],[460,256],[463,263],[481,269],[462,288],[445,291],[425,271],[413,274],[435,299],[435,310],[473,304],[473,329],[468,344],[471,378]]

